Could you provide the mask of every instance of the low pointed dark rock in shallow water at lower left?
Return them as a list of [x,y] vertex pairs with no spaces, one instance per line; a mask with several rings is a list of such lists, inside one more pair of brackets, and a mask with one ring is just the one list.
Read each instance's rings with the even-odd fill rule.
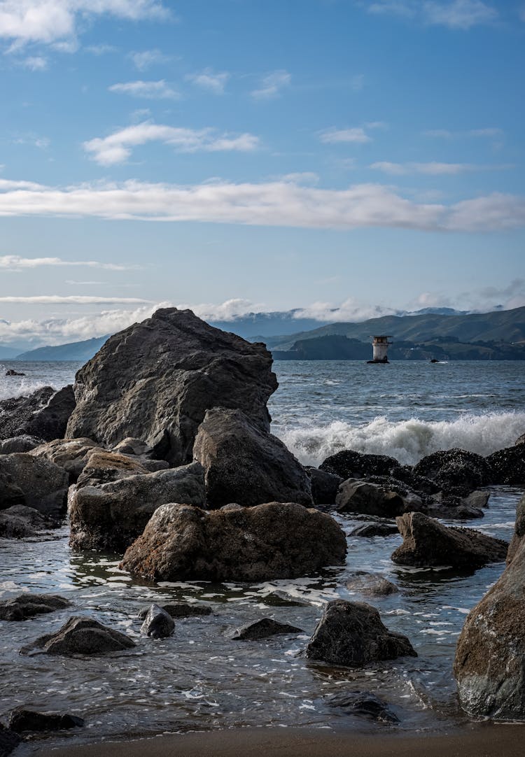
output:
[[105,655],[129,650],[135,642],[120,631],[84,615],[73,615],[55,634],[45,634],[23,647],[20,654],[42,650],[48,655]]

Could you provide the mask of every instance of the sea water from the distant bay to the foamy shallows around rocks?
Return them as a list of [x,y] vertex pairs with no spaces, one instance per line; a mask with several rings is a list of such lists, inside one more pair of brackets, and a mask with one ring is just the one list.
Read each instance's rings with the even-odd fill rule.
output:
[[[4,377],[9,367],[27,376]],[[46,384],[59,388],[78,367],[2,361],[0,397]],[[391,454],[403,463],[451,447],[488,454],[525,431],[520,363],[277,361],[274,369],[280,388],[269,403],[272,431],[303,463],[318,464],[344,448]],[[490,493],[483,520],[467,525],[508,540],[522,492],[494,487]],[[371,734],[461,727],[467,718],[452,678],[455,643],[467,612],[504,566],[473,573],[403,568],[390,559],[400,536],[352,537],[359,521],[350,515],[336,519],[348,535],[345,566],[259,584],[132,579],[118,568],[120,555],[71,552],[67,524],[44,538],[0,540],[0,598],[31,590],[61,593],[73,602],[70,609],[30,621],[0,621],[0,720],[17,705],[86,719],[86,728],[53,737],[53,744],[234,726],[345,727]],[[386,576],[399,592],[373,600],[352,593],[345,584],[356,570]],[[377,606],[389,628],[410,638],[417,658],[357,670],[307,661],[303,650],[323,604],[336,597]],[[176,621],[166,640],[141,637],[139,609],[173,601],[209,603],[213,615]],[[130,634],[136,649],[92,659],[18,654],[72,614]],[[264,616],[303,633],[258,642],[230,639],[233,628]],[[345,690],[376,693],[399,724],[377,724],[330,706],[330,695]],[[39,740],[27,743],[20,755],[40,746]]]

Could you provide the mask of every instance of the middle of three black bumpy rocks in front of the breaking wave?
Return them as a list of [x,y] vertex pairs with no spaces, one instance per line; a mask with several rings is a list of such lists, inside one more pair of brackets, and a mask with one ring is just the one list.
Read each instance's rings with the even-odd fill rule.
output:
[[492,466],[488,460],[459,449],[441,450],[423,457],[414,466],[414,473],[431,478],[448,494],[460,497],[492,483]]

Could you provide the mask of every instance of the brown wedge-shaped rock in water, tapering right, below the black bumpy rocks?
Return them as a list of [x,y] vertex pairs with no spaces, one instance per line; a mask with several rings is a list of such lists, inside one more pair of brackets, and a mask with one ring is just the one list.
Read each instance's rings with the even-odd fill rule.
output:
[[473,528],[447,527],[422,512],[407,512],[397,519],[403,544],[392,554],[399,565],[452,565],[477,570],[487,562],[501,562],[508,544]]

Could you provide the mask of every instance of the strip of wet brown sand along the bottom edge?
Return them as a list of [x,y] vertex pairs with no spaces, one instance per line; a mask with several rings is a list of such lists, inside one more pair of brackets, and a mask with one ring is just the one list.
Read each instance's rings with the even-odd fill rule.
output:
[[523,757],[525,724],[473,724],[462,731],[366,736],[308,728],[239,728],[153,739],[63,746],[39,757]]

